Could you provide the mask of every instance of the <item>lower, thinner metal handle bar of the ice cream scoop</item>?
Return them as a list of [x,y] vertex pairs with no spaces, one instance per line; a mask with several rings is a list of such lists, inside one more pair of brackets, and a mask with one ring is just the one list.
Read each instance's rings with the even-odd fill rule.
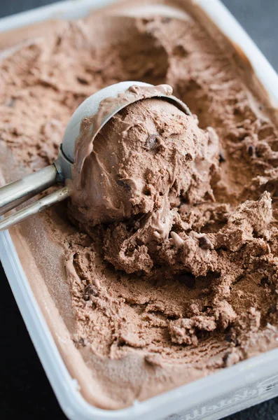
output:
[[0,221],[0,232],[2,230],[11,228],[11,226],[16,225],[16,223],[24,221],[26,218],[33,216],[40,211],[43,211],[47,207],[50,207],[57,202],[61,202],[67,197],[69,197],[68,187],[63,187],[52,194],[46,195],[46,197],[43,197],[40,200],[34,202],[34,204],[30,204],[24,209],[11,214],[11,216],[2,219]]

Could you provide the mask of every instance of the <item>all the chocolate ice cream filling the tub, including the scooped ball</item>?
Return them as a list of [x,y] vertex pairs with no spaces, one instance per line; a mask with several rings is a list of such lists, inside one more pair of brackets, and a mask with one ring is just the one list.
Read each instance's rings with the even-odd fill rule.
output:
[[106,85],[167,83],[193,114],[158,98],[127,106],[94,139],[82,190],[11,232],[32,287],[41,276],[47,288],[42,309],[59,311],[48,319],[62,356],[98,407],[277,346],[276,116],[232,47],[194,8],[169,4],[179,18],[127,16],[124,3],[55,22],[0,64],[6,181],[52,162],[71,113]]

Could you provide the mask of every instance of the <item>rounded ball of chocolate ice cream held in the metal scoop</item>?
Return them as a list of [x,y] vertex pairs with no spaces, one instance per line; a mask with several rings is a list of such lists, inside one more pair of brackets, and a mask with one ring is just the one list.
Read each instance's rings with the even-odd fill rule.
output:
[[217,145],[214,134],[174,104],[158,98],[134,102],[97,134],[71,213],[97,225],[156,211],[163,197],[186,195],[193,176],[200,176],[198,162],[205,178]]

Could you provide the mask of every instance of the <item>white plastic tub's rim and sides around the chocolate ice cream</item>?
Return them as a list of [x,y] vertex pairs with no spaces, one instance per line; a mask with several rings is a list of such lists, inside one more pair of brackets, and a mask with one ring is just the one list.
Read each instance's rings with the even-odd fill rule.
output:
[[[50,18],[79,18],[116,0],[63,1],[0,20],[7,31]],[[184,0],[189,1],[189,0]],[[195,0],[223,34],[237,44],[251,62],[274,105],[278,104],[278,76],[244,29],[218,0]],[[167,12],[168,13],[168,12]],[[0,234],[0,256],[8,281],[36,351],[64,413],[71,420],[218,420],[278,395],[278,349],[262,353],[221,372],[172,391],[109,411],[92,407],[78,391],[43,318],[8,232]]]

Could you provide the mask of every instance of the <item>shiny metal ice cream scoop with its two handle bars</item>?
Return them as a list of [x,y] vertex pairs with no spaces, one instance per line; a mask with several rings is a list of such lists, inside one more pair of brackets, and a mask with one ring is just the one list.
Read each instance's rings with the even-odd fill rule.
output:
[[[81,122],[85,117],[97,115],[99,106],[101,106],[104,99],[114,98],[115,102],[112,101],[112,106],[109,110],[102,114],[102,119],[97,125],[97,130],[94,130],[94,137],[110,120],[110,118],[115,116],[121,109],[146,97],[162,97],[168,102],[174,103],[179,107],[179,109],[181,109],[181,111],[190,115],[188,107],[183,104],[183,102],[171,94],[163,94],[158,91],[151,92],[150,90],[150,93],[144,95],[144,97],[138,97],[136,94],[130,95],[125,102],[117,101],[120,94],[124,94],[124,92],[128,89],[134,89],[134,92],[136,92],[136,87],[153,87],[153,85],[141,82],[116,83],[115,85],[105,87],[95,94],[92,94],[92,96],[88,97],[88,99],[78,106],[78,109],[76,109],[74,114],[71,116],[69,124],[64,132],[57,160],[55,160],[52,165],[40,169],[38,172],[34,172],[34,174],[27,175],[18,181],[14,181],[0,188],[0,216],[6,214],[7,211],[14,209],[19,204],[26,202],[31,197],[41,193],[50,186],[54,186],[56,183],[64,184],[67,179],[72,178],[74,150],[76,146],[76,139],[78,139],[80,134]],[[52,204],[64,200],[69,197],[69,195],[70,188],[68,186],[63,186],[54,193],[46,195],[33,204],[16,211],[0,221],[0,232],[10,228],[20,221],[23,221],[25,218],[28,218],[33,214],[38,213],[39,211],[43,211],[43,209],[50,207]]]

